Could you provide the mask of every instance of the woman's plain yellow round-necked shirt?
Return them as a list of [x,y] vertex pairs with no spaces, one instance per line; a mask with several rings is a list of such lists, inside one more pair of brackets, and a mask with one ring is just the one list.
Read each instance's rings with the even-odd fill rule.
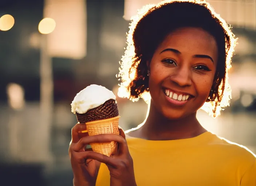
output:
[[[182,140],[127,137],[137,186],[256,186],[256,156],[215,134]],[[96,186],[109,186],[101,164]]]

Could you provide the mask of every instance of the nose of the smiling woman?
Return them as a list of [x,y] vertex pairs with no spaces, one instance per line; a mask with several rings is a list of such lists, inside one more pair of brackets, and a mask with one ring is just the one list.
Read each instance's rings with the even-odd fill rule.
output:
[[192,84],[191,69],[186,66],[180,66],[172,72],[170,79],[179,86],[190,86]]

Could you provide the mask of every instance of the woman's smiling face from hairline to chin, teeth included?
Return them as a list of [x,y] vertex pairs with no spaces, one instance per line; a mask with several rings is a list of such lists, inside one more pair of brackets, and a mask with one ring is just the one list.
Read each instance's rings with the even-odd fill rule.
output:
[[209,96],[217,51],[215,39],[203,29],[170,33],[147,63],[152,106],[169,119],[195,113]]

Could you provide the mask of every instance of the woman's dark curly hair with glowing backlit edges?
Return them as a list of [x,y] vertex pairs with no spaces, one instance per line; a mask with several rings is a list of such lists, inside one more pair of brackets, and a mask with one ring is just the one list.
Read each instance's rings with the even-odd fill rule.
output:
[[181,27],[202,28],[210,33],[218,46],[218,63],[208,99],[201,109],[212,117],[220,115],[229,106],[231,88],[228,84],[228,69],[237,39],[232,28],[215,13],[204,0],[167,0],[157,5],[146,5],[132,17],[127,34],[127,48],[121,58],[121,68],[117,77],[119,97],[132,101],[143,98],[149,102],[149,77],[147,61],[157,47],[172,31]]

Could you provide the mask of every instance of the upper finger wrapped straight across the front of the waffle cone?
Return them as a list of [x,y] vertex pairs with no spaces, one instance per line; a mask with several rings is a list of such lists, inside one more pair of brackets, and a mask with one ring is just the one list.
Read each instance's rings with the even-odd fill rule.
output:
[[73,150],[78,152],[87,144],[105,143],[105,142],[111,142],[111,141],[115,141],[119,143],[120,152],[127,153],[128,146],[127,146],[126,140],[117,134],[99,134],[95,136],[87,136],[87,137],[81,138],[81,140],[79,140],[79,142],[77,142],[74,145]]

